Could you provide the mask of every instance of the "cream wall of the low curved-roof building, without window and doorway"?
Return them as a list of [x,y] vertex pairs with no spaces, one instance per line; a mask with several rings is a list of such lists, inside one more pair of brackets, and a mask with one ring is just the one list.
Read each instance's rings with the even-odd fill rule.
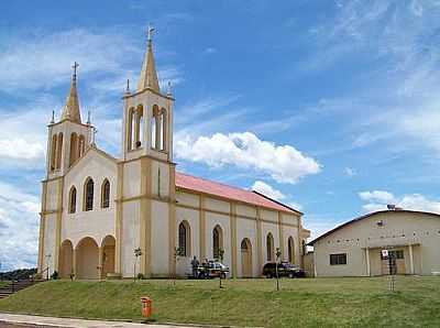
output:
[[[383,227],[377,226],[381,220]],[[348,225],[315,243],[318,276],[365,275],[366,256],[363,248],[382,249],[407,243],[421,244],[417,249],[421,254],[415,258],[415,269],[421,261],[421,274],[440,272],[440,218],[417,212],[386,211]],[[348,264],[330,265],[329,256],[336,253],[346,253]],[[408,265],[406,270],[408,272]]]

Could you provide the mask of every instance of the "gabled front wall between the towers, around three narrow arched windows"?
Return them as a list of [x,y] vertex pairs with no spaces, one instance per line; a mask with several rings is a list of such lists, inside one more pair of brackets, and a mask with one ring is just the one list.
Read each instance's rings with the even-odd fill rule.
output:
[[[94,179],[94,209],[84,211],[84,184],[87,177]],[[101,208],[101,186],[110,182],[110,207]],[[68,214],[70,187],[77,190],[76,212]],[[65,176],[63,196],[62,242],[69,239],[74,248],[85,237],[91,237],[98,245],[108,234],[114,237],[114,198],[117,188],[117,165],[97,151],[89,151]]]

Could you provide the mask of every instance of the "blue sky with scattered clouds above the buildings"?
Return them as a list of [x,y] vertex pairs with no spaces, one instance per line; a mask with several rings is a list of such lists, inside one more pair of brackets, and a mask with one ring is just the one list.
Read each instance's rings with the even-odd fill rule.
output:
[[178,170],[290,204],[314,237],[389,203],[440,212],[439,14],[438,0],[1,3],[0,270],[35,264],[72,63],[82,118],[118,156],[148,23]]

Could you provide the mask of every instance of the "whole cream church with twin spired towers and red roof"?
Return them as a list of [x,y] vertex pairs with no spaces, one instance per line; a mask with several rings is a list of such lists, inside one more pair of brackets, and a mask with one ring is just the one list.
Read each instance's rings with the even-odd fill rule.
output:
[[301,212],[256,192],[176,172],[174,98],[160,89],[151,35],[138,87],[122,97],[119,158],[100,150],[95,128],[81,121],[76,68],[62,116],[48,125],[38,272],[185,275],[193,256],[223,254],[231,276],[256,277],[277,248],[284,261],[301,264],[309,237]]

